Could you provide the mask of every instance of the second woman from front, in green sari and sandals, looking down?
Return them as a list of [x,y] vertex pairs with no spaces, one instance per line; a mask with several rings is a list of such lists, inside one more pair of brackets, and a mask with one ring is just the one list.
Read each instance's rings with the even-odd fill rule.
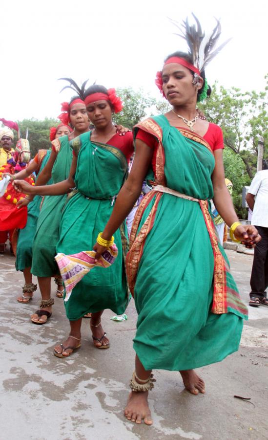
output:
[[[60,223],[57,252],[64,254],[93,248],[97,231],[104,227],[114,208],[133,154],[132,132],[121,135],[112,122],[113,112],[122,109],[115,90],[93,85],[87,89],[85,96],[87,114],[95,128],[70,142],[73,161],[68,178],[49,187],[27,187],[32,194],[54,197],[76,187],[77,192],[64,207]],[[92,312],[90,326],[94,346],[98,349],[109,347],[109,339],[101,324],[103,309],[110,308],[114,313],[122,314],[128,304],[124,264],[127,230],[124,220],[115,231],[115,237],[118,247],[115,263],[105,272],[95,267],[64,302],[71,331],[68,338],[55,347],[54,354],[58,357],[67,357],[80,347],[82,316],[88,312]]]

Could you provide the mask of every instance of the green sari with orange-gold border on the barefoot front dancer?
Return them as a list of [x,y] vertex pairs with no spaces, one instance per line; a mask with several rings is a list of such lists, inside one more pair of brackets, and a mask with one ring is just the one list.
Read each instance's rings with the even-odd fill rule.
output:
[[197,201],[151,191],[136,213],[127,255],[138,311],[134,349],[144,368],[188,370],[238,350],[247,308],[240,300],[209,203],[214,155],[196,133],[164,115],[138,124],[158,140],[157,184]]

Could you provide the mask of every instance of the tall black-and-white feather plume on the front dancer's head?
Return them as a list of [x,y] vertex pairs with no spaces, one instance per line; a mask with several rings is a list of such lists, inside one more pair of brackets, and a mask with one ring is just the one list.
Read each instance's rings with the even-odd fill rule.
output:
[[175,33],[175,35],[186,40],[193,65],[202,71],[231,39],[229,38],[218,48],[215,48],[222,31],[219,20],[216,19],[216,26],[210,34],[208,33],[206,35],[202,30],[198,18],[194,14],[192,14],[192,16],[196,22],[192,25],[189,24],[187,18],[186,21],[183,21],[182,25],[179,25],[178,22],[172,19],[169,20],[180,30],[180,34]]

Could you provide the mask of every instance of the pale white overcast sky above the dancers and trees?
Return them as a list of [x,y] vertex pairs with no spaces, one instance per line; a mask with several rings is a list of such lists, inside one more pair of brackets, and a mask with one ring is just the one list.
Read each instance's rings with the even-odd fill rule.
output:
[[24,0],[0,5],[0,117],[57,117],[69,100],[60,77],[78,83],[97,80],[107,88],[144,88],[160,99],[154,85],[166,55],[185,50],[171,17],[179,22],[193,11],[205,29],[221,18],[221,42],[230,43],[206,68],[210,84],[242,90],[265,87],[266,0]]

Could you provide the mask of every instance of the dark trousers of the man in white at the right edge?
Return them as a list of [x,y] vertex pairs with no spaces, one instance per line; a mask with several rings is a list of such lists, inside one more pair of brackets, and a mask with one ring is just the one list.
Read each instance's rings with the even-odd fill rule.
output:
[[250,298],[267,297],[265,291],[268,287],[268,228],[256,226],[262,240],[256,244],[254,249],[254,260],[252,264],[250,287]]

